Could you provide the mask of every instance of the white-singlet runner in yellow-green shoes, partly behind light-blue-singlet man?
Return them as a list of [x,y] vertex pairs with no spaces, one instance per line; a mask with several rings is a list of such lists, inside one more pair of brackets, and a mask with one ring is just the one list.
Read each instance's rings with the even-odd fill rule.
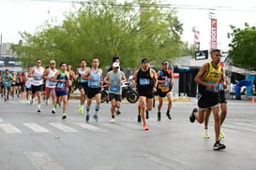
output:
[[79,113],[82,115],[83,114],[83,104],[86,99],[86,94],[87,94],[87,87],[88,87],[88,80],[83,79],[82,76],[83,74],[88,70],[86,67],[87,62],[85,60],[81,60],[80,65],[81,67],[77,69],[76,72],[76,79],[78,79],[78,88],[81,92],[81,98],[80,98],[80,106],[79,106]]

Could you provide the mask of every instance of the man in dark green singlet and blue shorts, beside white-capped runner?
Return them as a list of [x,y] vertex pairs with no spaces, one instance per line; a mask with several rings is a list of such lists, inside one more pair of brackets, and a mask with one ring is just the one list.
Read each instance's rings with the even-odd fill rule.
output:
[[55,110],[58,108],[61,101],[63,101],[62,108],[62,119],[67,119],[67,99],[68,99],[68,83],[69,76],[67,72],[67,63],[62,62],[60,64],[60,70],[53,77],[53,82],[56,82],[55,93],[56,93],[56,103],[54,105]]

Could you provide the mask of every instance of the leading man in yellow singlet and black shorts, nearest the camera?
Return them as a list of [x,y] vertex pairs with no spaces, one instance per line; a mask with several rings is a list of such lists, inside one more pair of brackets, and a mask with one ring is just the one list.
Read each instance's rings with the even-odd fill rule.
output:
[[[226,146],[221,144],[219,141],[219,104],[218,104],[218,92],[223,90],[224,81],[224,71],[220,66],[219,62],[221,59],[220,50],[211,51],[212,62],[203,64],[195,81],[199,85],[199,100],[198,107],[194,108],[192,113],[189,115],[190,122],[197,120],[199,123],[203,123],[204,114],[207,109],[211,109],[214,114],[215,120],[215,144],[213,149],[225,149]],[[218,83],[221,80],[221,83]]]

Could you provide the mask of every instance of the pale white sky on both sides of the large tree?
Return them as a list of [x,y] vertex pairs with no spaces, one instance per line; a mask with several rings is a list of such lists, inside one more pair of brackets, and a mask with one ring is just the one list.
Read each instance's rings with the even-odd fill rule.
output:
[[[85,0],[89,1],[89,0]],[[122,0],[119,0],[122,1]],[[192,27],[200,31],[201,50],[210,47],[209,11],[214,11],[218,20],[218,49],[229,50],[232,33],[230,25],[244,28],[245,22],[255,26],[255,0],[162,0],[171,4],[177,11],[179,21],[183,23],[182,40],[194,42]],[[48,19],[56,24],[64,20],[64,13],[71,7],[71,0],[1,0],[0,34],[2,42],[18,43],[21,32],[34,34],[38,27]],[[214,10],[210,10],[214,9]]]

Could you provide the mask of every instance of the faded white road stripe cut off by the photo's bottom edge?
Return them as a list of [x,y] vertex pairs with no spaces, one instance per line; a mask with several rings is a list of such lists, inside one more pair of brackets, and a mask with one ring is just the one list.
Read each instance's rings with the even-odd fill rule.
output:
[[65,170],[59,163],[54,163],[50,155],[44,151],[25,151],[26,157],[40,170]]

